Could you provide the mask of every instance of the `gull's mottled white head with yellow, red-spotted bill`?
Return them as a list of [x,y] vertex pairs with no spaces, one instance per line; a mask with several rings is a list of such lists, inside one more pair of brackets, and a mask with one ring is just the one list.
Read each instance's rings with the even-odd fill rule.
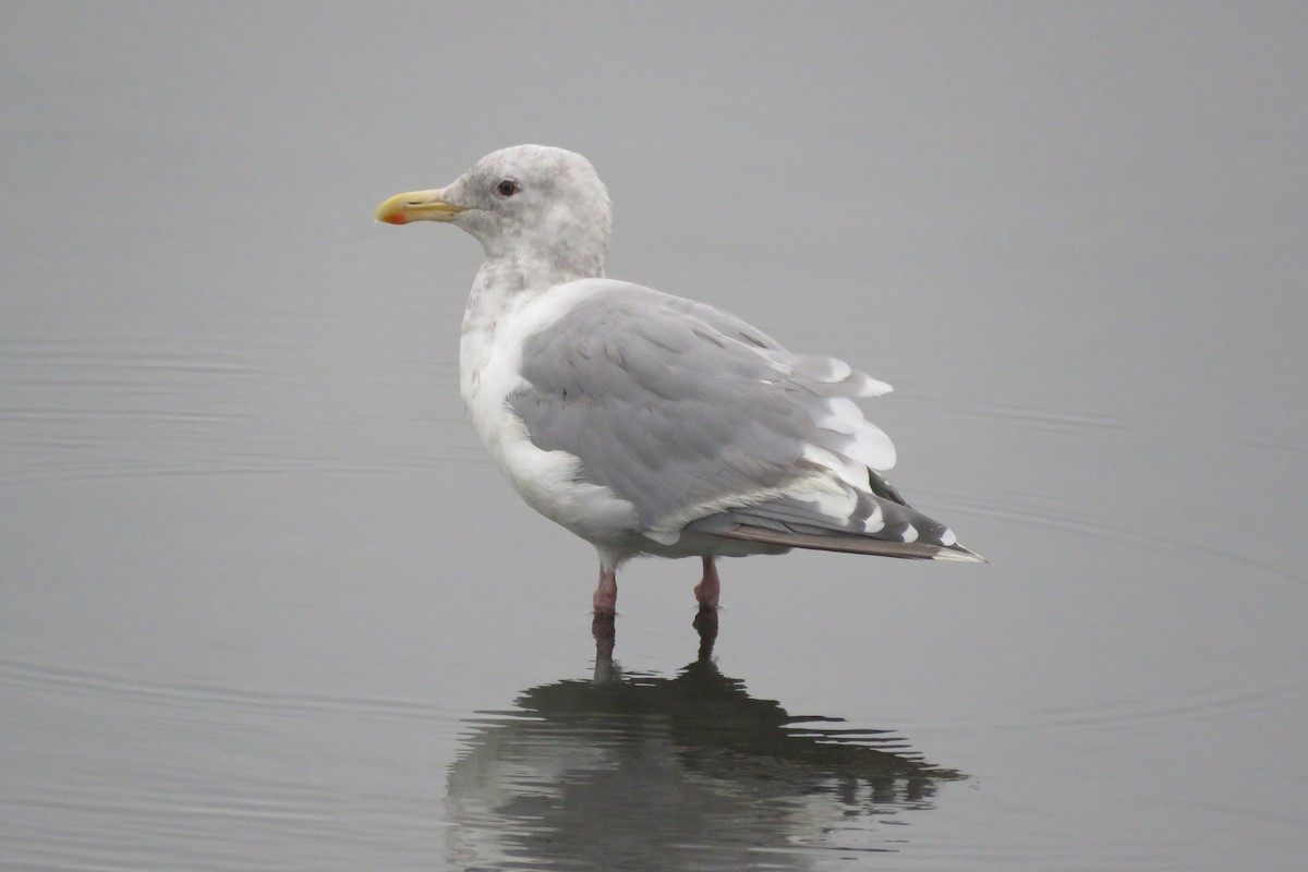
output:
[[548,145],[492,152],[443,188],[391,197],[377,220],[450,222],[472,234],[488,260],[544,263],[577,278],[603,275],[612,231],[595,167]]

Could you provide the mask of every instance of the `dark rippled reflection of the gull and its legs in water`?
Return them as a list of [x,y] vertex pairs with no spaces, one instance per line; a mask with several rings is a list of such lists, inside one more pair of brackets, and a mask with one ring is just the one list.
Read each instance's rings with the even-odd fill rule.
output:
[[878,729],[755,699],[710,655],[675,677],[623,673],[596,618],[595,675],[531,688],[470,720],[451,766],[459,869],[797,869],[908,843],[904,812],[961,778]]

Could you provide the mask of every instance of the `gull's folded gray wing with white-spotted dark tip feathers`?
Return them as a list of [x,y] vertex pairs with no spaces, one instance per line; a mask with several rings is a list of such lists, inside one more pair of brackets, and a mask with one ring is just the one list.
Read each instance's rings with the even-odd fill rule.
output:
[[[527,339],[522,377],[508,401],[531,442],[579,458],[646,531],[951,544],[869,469],[892,465],[893,448],[850,397],[888,386],[790,354],[722,310],[612,282]],[[812,494],[819,478],[832,493]]]

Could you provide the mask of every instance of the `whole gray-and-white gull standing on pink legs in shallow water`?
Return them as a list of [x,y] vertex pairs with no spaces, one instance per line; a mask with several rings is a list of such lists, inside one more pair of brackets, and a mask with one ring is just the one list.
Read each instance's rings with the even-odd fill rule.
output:
[[855,400],[888,384],[604,277],[612,210],[581,154],[492,152],[443,188],[390,197],[377,220],[453,224],[481,243],[463,401],[527,505],[595,546],[596,614],[615,613],[617,569],[638,554],[700,557],[695,595],[710,609],[719,557],[981,560],[882,475],[895,447]]

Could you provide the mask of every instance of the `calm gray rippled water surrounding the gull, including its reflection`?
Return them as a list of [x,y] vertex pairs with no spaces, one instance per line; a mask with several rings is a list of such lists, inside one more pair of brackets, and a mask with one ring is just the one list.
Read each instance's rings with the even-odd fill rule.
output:
[[[5,5],[0,868],[1301,868],[1305,25]],[[458,401],[480,251],[371,224],[526,141],[611,276],[891,382],[991,565],[729,561],[705,675],[638,562],[591,686],[594,554]]]

